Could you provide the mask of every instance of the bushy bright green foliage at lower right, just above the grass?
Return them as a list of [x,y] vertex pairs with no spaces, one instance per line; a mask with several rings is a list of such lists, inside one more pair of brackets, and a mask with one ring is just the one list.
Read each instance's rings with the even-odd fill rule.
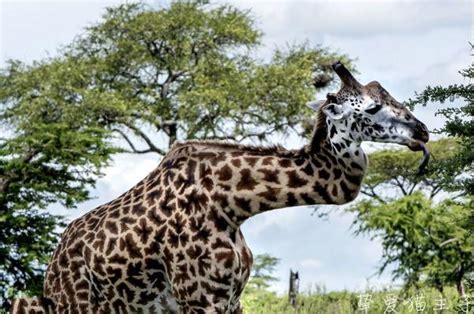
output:
[[467,217],[464,202],[439,204],[421,192],[383,205],[364,200],[352,207],[356,212],[356,234],[370,234],[382,242],[382,273],[397,265],[393,277],[407,287],[424,282],[443,291],[460,284],[474,270],[474,239],[459,222]]

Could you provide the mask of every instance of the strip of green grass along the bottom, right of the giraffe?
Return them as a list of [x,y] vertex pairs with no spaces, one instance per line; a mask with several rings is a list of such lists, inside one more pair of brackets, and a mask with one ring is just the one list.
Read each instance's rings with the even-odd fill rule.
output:
[[[244,313],[250,314],[346,314],[346,313],[474,313],[473,296],[467,301],[459,299],[456,289],[447,288],[442,296],[437,290],[424,288],[403,295],[400,290],[366,291],[363,293],[340,291],[310,291],[298,296],[296,310],[288,296],[278,296],[268,291],[245,292],[241,302]],[[364,298],[365,297],[365,298]],[[364,301],[367,311],[364,309]],[[445,309],[442,308],[444,303]],[[392,305],[393,303],[393,305]],[[392,307],[393,306],[393,307]],[[393,308],[393,311],[392,311]],[[417,311],[418,309],[418,311]],[[423,309],[423,311],[421,311]]]

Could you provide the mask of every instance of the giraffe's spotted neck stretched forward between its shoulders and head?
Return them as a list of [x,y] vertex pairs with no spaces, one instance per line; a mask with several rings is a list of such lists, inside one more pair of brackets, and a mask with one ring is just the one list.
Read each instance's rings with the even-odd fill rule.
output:
[[230,153],[217,164],[211,198],[231,225],[259,213],[289,206],[344,204],[353,200],[367,167],[360,143],[319,125],[300,150]]

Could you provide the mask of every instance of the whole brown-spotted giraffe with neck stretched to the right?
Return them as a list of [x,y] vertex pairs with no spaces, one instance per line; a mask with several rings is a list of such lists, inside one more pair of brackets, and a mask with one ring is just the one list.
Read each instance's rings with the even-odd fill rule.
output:
[[354,200],[368,163],[363,141],[427,154],[427,128],[408,109],[378,82],[332,67],[341,88],[310,103],[317,118],[307,145],[175,144],[136,186],[66,228],[43,299],[16,299],[11,313],[241,313],[252,265],[242,223]]

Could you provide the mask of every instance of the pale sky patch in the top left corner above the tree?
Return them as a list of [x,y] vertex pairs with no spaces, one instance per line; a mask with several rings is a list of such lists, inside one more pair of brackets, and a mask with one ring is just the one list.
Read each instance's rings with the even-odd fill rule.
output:
[[56,55],[84,27],[97,22],[104,8],[122,1],[0,1],[0,65]]

